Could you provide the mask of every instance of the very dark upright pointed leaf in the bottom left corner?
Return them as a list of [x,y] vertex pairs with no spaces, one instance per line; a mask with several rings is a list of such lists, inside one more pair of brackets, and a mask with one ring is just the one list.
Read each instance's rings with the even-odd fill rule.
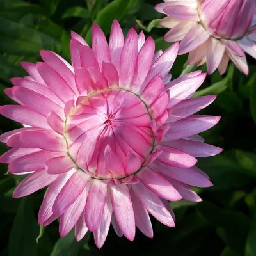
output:
[[9,256],[36,256],[38,224],[29,199],[23,198],[10,233]]

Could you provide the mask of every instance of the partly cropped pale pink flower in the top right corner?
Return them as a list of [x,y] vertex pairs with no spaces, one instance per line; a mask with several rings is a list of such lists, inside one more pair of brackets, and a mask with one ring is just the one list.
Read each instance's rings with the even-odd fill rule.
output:
[[256,58],[255,0],[165,0],[156,10],[168,17],[161,25],[170,28],[168,42],[181,41],[179,54],[189,52],[188,63],[202,65],[207,72],[217,68],[224,74],[232,60],[248,74],[244,52]]

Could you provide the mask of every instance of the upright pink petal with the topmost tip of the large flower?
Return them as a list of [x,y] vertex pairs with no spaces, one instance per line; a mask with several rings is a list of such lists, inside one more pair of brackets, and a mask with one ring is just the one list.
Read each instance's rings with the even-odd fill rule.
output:
[[111,27],[111,33],[109,36],[109,52],[111,56],[111,62],[115,65],[116,69],[119,70],[120,56],[124,46],[124,35],[122,28],[120,27],[117,20],[113,21]]

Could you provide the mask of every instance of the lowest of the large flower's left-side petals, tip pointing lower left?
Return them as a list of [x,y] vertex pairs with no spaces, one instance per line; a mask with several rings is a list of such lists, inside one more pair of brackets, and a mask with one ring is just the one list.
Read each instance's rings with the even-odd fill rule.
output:
[[58,175],[49,175],[44,169],[33,172],[20,182],[17,188],[15,188],[12,196],[14,198],[19,198],[30,195],[35,191],[48,186],[54,182],[57,177]]

